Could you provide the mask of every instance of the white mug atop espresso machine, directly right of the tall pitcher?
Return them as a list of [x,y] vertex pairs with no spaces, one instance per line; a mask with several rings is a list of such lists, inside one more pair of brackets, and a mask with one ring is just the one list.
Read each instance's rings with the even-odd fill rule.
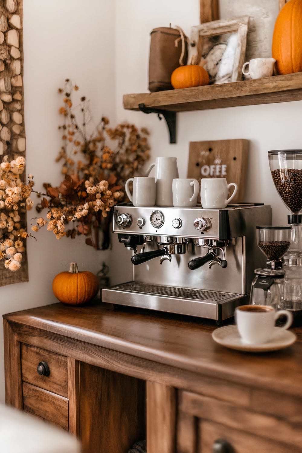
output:
[[175,178],[172,181],[173,206],[195,207],[199,193],[197,179]]

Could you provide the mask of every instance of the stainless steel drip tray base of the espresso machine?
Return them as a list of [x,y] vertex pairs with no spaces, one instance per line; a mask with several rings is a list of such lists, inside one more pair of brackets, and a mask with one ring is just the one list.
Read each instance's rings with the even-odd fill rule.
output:
[[102,302],[213,319],[221,324],[234,316],[238,305],[249,303],[249,294],[230,294],[132,281],[102,289]]

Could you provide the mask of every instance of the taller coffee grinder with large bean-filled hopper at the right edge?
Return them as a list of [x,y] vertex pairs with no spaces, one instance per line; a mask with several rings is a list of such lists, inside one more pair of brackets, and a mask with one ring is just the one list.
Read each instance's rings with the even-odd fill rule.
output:
[[302,325],[302,149],[268,151],[268,162],[277,192],[291,212],[291,246],[282,258],[284,295],[278,308],[290,310],[294,324]]

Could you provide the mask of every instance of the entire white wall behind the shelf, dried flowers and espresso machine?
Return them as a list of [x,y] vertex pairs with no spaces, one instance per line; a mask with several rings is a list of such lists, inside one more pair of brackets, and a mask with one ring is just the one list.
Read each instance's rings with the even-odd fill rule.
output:
[[[60,146],[56,92],[66,77],[76,77],[96,119],[104,113],[112,124],[129,120],[147,126],[153,157],[177,156],[181,177],[186,176],[190,141],[249,139],[245,199],[271,204],[273,222],[286,223],[287,209],[273,187],[267,150],[302,148],[302,101],[179,113],[176,145],[169,144],[167,126],[156,115],[123,110],[124,93],[148,91],[150,31],[171,23],[189,35],[190,27],[199,23],[198,5],[198,0],[24,0],[27,170],[34,173],[36,188],[59,182],[59,164],[54,163]],[[0,288],[2,313],[55,302],[53,276],[71,260],[96,272],[106,259],[114,269],[112,283],[131,279],[130,252],[122,246],[113,253],[96,252],[83,238],[57,241],[40,231],[38,242],[29,241],[28,258],[29,283]],[[0,343],[2,349],[2,332]],[[4,400],[2,354],[0,359]]]

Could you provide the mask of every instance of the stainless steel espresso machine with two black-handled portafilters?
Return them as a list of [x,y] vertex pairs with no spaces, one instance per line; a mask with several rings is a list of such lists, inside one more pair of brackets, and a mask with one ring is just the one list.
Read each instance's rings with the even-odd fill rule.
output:
[[222,323],[249,303],[255,267],[265,264],[256,225],[270,206],[114,208],[113,231],[132,250],[133,281],[102,290],[102,301]]

